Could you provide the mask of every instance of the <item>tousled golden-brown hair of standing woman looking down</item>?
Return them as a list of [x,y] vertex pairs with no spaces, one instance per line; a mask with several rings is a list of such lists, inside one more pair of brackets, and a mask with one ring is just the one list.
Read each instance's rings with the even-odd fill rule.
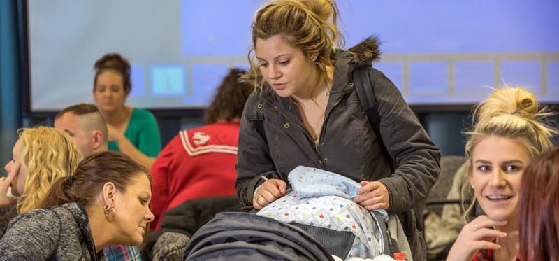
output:
[[254,85],[256,90],[262,90],[262,76],[251,53],[256,50],[257,39],[266,40],[276,35],[300,48],[305,56],[317,55],[314,64],[319,69],[318,80],[326,79],[328,68],[334,65],[335,48],[344,45],[344,38],[336,25],[337,17],[337,6],[332,0],[269,1],[256,11],[252,22],[252,48],[248,53],[250,71],[242,76],[242,80]]

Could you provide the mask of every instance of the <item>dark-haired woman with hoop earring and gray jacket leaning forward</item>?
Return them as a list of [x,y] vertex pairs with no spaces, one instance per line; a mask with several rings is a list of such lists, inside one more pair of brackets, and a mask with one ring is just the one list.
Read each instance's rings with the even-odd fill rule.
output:
[[0,260],[98,260],[104,246],[139,246],[154,218],[151,194],[140,164],[119,153],[91,155],[49,190],[41,207],[54,207],[10,222]]

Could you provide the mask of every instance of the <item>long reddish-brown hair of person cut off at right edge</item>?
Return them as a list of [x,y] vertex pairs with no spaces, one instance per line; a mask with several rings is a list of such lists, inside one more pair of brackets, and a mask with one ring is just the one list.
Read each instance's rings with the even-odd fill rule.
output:
[[524,171],[520,199],[523,260],[559,258],[559,146]]

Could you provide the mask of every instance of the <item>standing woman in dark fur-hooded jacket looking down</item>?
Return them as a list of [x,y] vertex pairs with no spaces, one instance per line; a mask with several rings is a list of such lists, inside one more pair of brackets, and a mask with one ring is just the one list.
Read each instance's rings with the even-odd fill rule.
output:
[[[398,88],[372,68],[377,38],[343,50],[338,20],[332,0],[268,1],[256,11],[242,78],[255,92],[240,123],[238,198],[263,209],[286,195],[297,166],[331,171],[361,185],[352,204],[398,215],[413,258],[425,259],[417,211],[437,179],[440,152]],[[361,108],[354,73],[372,85],[380,136]]]

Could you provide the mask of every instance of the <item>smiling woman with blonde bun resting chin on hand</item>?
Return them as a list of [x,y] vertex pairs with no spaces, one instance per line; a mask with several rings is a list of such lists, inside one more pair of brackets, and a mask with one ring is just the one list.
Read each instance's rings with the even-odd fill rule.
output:
[[475,127],[466,133],[474,201],[465,212],[477,202],[484,214],[463,227],[448,260],[520,260],[521,183],[532,159],[553,146],[557,131],[543,121],[549,115],[520,87],[496,90],[477,106]]

